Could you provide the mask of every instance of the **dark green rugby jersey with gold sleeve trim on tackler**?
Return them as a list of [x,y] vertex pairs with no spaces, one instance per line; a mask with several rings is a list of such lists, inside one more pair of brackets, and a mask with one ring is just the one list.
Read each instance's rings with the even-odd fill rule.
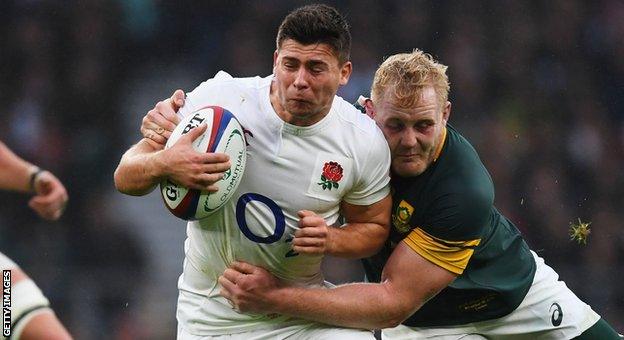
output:
[[379,282],[399,242],[458,275],[403,324],[461,325],[518,307],[535,261],[518,229],[494,207],[492,179],[464,137],[447,125],[437,160],[417,177],[394,175],[392,189],[390,237],[379,254],[364,260],[368,279]]

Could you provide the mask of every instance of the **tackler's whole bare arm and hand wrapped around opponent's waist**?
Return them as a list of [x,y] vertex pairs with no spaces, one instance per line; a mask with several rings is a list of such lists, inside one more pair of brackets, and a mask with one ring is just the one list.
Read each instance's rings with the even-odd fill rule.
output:
[[221,294],[241,312],[277,313],[342,327],[379,329],[399,325],[455,277],[401,242],[386,263],[382,283],[336,288],[285,286],[266,270],[241,262],[233,263],[219,277],[219,283]]

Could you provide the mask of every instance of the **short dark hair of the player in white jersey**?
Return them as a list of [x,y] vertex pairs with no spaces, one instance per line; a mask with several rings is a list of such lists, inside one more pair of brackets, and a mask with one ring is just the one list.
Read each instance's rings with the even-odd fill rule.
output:
[[303,45],[327,44],[344,63],[351,57],[351,33],[345,18],[333,7],[314,4],[290,12],[277,31],[277,49],[292,39]]

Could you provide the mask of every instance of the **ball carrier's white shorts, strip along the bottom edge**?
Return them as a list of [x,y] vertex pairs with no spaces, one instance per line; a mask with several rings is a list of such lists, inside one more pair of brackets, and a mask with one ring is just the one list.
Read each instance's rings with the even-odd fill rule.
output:
[[193,335],[178,325],[178,340],[374,340],[372,331],[321,324],[274,325],[273,328],[229,335]]

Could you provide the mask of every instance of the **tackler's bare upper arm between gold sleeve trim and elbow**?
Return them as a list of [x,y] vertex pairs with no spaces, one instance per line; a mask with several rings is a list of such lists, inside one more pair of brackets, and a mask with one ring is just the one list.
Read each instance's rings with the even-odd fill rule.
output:
[[456,277],[400,242],[386,262],[382,282],[407,318]]

